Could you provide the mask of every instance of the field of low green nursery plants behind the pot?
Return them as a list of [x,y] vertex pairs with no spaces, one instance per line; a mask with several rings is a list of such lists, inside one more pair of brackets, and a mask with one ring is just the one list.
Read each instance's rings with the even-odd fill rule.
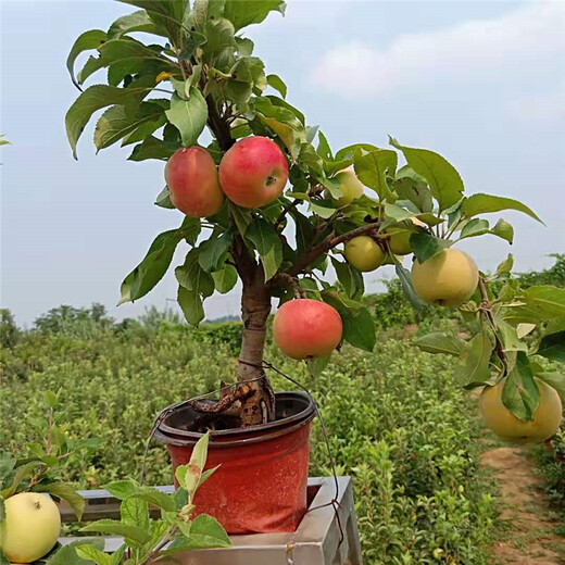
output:
[[[495,563],[490,548],[505,531],[497,519],[497,486],[479,467],[492,438],[485,441],[476,399],[453,382],[452,360],[410,346],[431,328],[465,328],[432,312],[423,319],[406,317],[413,314],[399,296],[392,288],[380,296],[386,300],[369,298],[382,326],[373,353],[344,347],[316,378],[272,344],[265,356],[319,401],[338,473],[354,478],[367,564]],[[45,391],[51,390],[58,392],[55,416],[67,437],[92,439],[85,455],[68,457],[64,478],[97,488],[138,477],[155,415],[213,390],[219,379],[233,381],[240,332],[239,324],[229,323],[191,330],[155,311],[116,324],[97,306],[56,309],[35,330],[21,332],[4,312],[0,447],[17,452],[39,437],[48,413]],[[273,382],[277,390],[292,389],[275,375]],[[537,452],[557,508],[563,445],[562,435],[561,443]],[[311,475],[327,474],[315,425]],[[147,482],[171,482],[167,453],[156,443]]]

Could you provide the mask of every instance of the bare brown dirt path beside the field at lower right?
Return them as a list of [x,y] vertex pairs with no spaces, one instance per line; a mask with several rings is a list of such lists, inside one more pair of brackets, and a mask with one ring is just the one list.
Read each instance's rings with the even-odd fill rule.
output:
[[499,519],[507,524],[507,539],[492,547],[500,564],[563,565],[565,540],[553,533],[541,481],[533,462],[520,448],[486,451],[481,465],[498,479],[504,508]]

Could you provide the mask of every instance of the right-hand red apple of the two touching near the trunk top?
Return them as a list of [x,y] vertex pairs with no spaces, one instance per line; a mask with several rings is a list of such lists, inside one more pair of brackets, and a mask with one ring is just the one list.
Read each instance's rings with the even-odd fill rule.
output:
[[288,179],[288,164],[280,148],[261,136],[238,141],[219,163],[219,184],[238,206],[261,208],[276,200]]

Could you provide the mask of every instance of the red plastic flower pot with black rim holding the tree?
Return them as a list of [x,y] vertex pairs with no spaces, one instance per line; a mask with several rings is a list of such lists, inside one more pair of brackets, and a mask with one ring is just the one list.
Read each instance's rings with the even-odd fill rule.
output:
[[[165,409],[163,413],[171,411]],[[228,533],[294,531],[306,511],[312,399],[302,392],[276,394],[276,419],[210,435],[206,468],[221,467],[194,497],[197,513],[214,516]],[[188,463],[211,415],[188,405],[172,407],[155,438],[165,443],[173,470]],[[217,418],[217,416],[215,416]],[[218,426],[217,419],[214,420]],[[223,426],[229,426],[225,418]]]

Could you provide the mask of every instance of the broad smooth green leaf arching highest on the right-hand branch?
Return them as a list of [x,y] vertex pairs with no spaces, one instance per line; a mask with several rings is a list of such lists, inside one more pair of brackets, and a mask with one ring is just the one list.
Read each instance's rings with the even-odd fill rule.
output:
[[402,151],[410,167],[428,181],[440,211],[459,202],[465,187],[451,163],[434,151],[404,147],[393,138],[390,138],[390,145]]

